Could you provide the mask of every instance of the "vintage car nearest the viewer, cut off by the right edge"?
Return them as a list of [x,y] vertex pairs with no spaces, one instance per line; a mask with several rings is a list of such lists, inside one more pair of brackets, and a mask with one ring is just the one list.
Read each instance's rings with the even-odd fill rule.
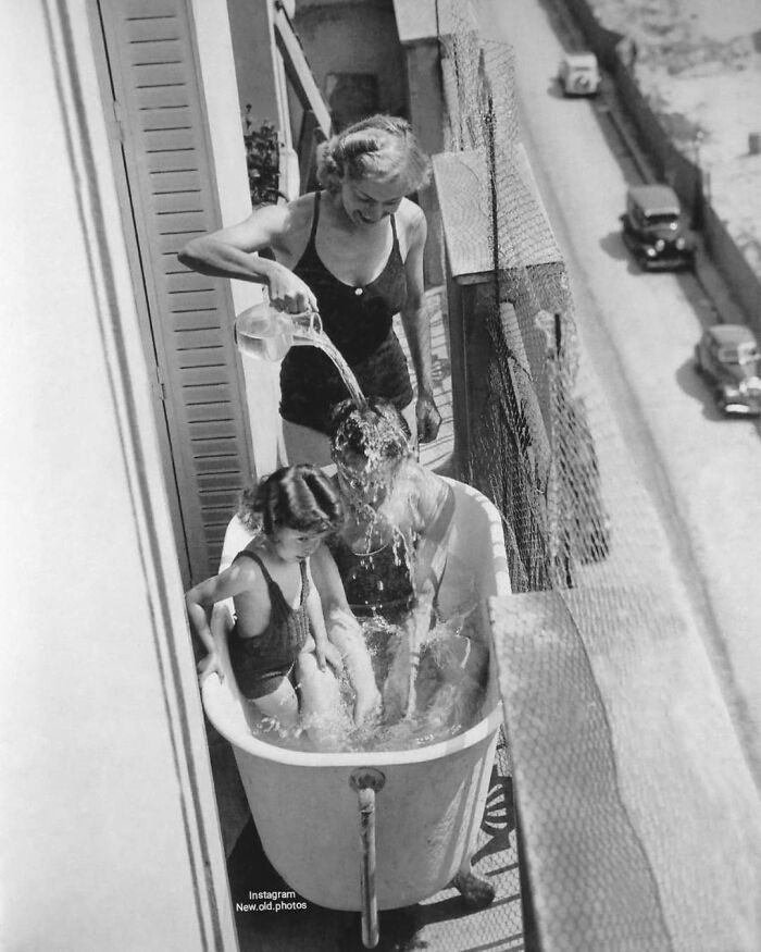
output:
[[761,416],[761,353],[750,327],[707,327],[695,347],[695,366],[722,412]]

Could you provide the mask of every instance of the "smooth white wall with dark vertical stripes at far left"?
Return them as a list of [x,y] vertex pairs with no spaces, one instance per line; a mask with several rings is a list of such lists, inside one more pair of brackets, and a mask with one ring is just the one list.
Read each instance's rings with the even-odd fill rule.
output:
[[86,2],[0,12],[3,948],[235,949]]

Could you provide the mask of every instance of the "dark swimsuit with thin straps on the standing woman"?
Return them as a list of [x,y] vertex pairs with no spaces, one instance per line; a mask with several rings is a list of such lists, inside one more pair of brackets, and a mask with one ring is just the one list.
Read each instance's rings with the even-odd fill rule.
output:
[[[353,371],[367,398],[380,397],[398,409],[412,400],[407,359],[392,331],[394,316],[407,300],[407,276],[399,250],[396,219],[394,243],[378,276],[352,287],[323,264],[314,239],[321,193],[314,196],[309,243],[294,273],[314,292],[323,330]],[[330,410],[349,396],[333,361],[316,347],[294,347],[280,368],[280,416],[290,423],[329,434]]]

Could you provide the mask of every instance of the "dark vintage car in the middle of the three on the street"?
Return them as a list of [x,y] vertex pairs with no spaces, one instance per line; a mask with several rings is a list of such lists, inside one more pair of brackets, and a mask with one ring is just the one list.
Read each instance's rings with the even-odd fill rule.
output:
[[621,217],[624,243],[645,270],[693,268],[695,236],[679,199],[668,185],[635,185],[626,193]]

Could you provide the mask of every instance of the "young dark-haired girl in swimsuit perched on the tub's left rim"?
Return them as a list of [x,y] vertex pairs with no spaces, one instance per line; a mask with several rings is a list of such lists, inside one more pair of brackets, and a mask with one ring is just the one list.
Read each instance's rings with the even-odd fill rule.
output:
[[229,568],[185,596],[190,623],[209,648],[199,668],[220,670],[209,621],[213,605],[232,597],[229,657],[240,693],[290,729],[298,687],[310,738],[317,746],[335,742],[340,697],[328,663],[339,668],[341,655],[327,639],[310,557],[341,523],[340,497],[316,467],[286,467],[244,492],[238,516],[255,533],[251,542]]

